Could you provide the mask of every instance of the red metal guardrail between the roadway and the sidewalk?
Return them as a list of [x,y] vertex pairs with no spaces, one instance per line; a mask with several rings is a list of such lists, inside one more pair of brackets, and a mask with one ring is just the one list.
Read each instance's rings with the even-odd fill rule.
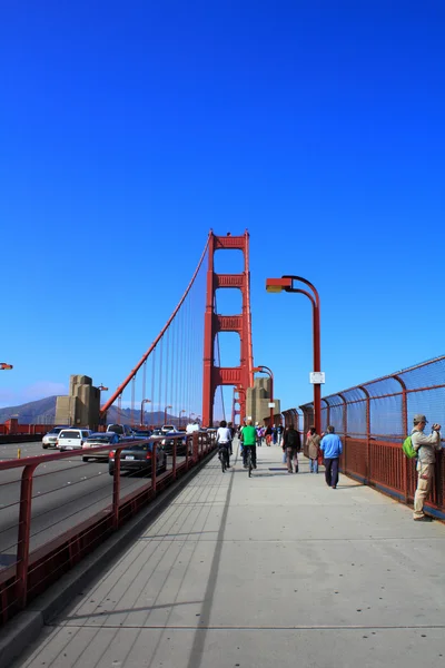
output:
[[[161,440],[149,440],[151,462],[157,462]],[[0,623],[215,450],[214,432],[168,440],[166,470],[160,473],[151,464],[149,481],[137,480],[138,472],[121,477],[121,452],[129,442],[0,461]],[[130,442],[137,444],[144,442]],[[93,464],[81,461],[111,450],[112,479],[102,475],[108,463],[107,471],[95,472]]]

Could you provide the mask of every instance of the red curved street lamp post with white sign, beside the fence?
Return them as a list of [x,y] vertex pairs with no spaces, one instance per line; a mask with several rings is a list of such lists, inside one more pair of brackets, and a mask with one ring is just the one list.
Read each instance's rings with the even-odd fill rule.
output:
[[[299,281],[307,285],[312,292],[294,287],[294,281]],[[281,278],[267,278],[267,292],[290,292],[300,293],[310,299],[313,305],[313,341],[314,341],[314,376],[312,383],[314,385],[314,423],[317,434],[322,433],[322,383],[325,382],[322,373],[322,352],[320,352],[320,301],[315,286],[301,276],[281,276]]]

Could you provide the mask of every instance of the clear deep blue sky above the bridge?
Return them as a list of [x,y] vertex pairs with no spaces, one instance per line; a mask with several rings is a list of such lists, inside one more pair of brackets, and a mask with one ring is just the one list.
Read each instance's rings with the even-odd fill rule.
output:
[[250,233],[283,407],[310,304],[268,276],[319,291],[325,394],[443,354],[444,33],[439,1],[7,3],[0,405],[116,387],[210,228]]

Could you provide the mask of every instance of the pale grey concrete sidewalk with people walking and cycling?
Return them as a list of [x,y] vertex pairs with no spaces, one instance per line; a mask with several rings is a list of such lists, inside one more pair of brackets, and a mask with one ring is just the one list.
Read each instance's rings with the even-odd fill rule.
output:
[[14,667],[443,668],[445,527],[257,452],[251,479],[211,460]]

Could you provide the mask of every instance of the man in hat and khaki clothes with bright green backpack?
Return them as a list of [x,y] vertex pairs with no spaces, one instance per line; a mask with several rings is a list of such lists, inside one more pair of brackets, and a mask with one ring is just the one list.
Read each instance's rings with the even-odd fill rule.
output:
[[424,434],[425,415],[416,413],[414,415],[414,428],[411,433],[411,441],[414,450],[417,452],[417,489],[414,495],[413,519],[417,522],[428,521],[424,514],[424,503],[428,497],[434,478],[434,464],[436,461],[436,450],[441,450],[441,425],[433,424],[433,431],[427,436]]

